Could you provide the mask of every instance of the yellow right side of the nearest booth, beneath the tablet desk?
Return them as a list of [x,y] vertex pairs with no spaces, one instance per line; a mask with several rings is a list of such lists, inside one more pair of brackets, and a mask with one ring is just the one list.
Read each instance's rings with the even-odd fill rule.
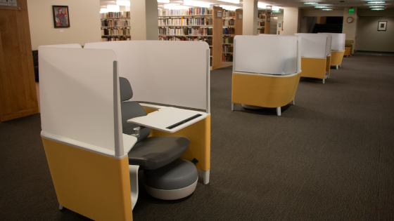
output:
[[[144,107],[146,113],[155,112],[157,109]],[[198,160],[196,168],[207,171],[210,169],[210,115],[207,118],[193,123],[191,126],[178,130],[175,133],[165,133],[160,130],[151,129],[152,136],[183,136],[189,138],[189,149],[180,156],[182,159],[192,161]]]

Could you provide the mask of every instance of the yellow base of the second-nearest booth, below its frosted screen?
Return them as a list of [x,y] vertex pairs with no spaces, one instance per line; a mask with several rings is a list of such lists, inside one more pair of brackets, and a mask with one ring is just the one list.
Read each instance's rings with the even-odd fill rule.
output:
[[291,76],[233,73],[231,102],[258,107],[283,107],[294,100],[301,72]]

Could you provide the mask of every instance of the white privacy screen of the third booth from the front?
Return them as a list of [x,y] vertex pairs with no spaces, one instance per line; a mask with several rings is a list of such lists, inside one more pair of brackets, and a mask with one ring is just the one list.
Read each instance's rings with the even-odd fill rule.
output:
[[326,58],[327,34],[298,33],[303,40],[301,56],[304,58]]

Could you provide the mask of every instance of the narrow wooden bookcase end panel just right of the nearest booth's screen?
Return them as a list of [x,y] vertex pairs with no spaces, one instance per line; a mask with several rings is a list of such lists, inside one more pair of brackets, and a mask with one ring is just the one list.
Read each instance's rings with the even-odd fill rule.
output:
[[[217,17],[217,12],[220,17]],[[213,7],[213,30],[212,30],[212,69],[222,67],[222,51],[223,51],[223,8]]]

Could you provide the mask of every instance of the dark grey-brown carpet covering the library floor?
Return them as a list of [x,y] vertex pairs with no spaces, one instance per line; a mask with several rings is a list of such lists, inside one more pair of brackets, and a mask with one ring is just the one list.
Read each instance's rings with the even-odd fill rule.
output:
[[[231,112],[231,67],[212,71],[210,183],[161,201],[140,182],[134,220],[394,220],[393,70],[344,58],[325,84],[301,79],[282,116]],[[39,115],[0,123],[0,219],[89,220],[58,210],[39,132]]]

